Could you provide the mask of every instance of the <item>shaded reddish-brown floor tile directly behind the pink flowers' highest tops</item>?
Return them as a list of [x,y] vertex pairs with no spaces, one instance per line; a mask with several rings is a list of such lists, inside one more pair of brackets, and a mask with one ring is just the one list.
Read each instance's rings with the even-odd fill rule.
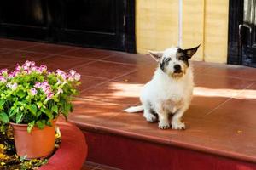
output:
[[[40,65],[47,65],[47,67],[50,70],[56,70],[56,69],[68,70],[68,69],[77,67],[79,65],[84,65],[89,62],[90,62],[89,59],[79,59],[79,58],[73,58],[73,57],[67,57],[67,56],[61,56],[61,55],[51,56],[50,58],[42,59],[38,61]],[[74,70],[76,69],[74,68]]]

